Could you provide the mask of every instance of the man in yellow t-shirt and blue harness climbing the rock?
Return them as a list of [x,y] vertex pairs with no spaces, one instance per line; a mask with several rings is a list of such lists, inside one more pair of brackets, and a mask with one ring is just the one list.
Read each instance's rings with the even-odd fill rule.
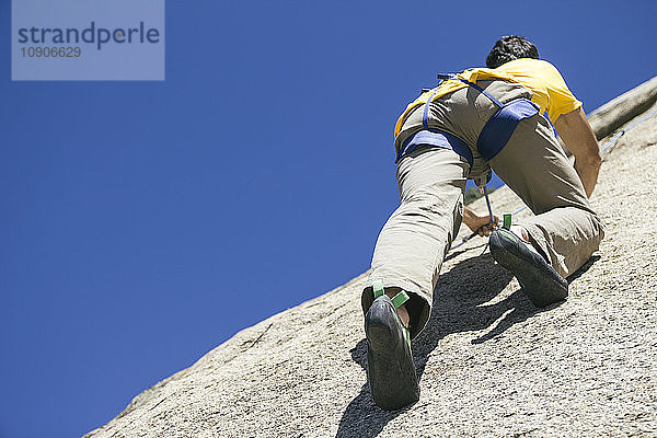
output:
[[601,158],[581,102],[523,37],[499,39],[486,65],[423,90],[395,127],[401,206],[381,230],[361,298],[368,381],[387,410],[419,397],[411,339],[427,323],[461,221],[480,234],[495,228],[487,216],[463,209],[468,178],[485,178],[492,168],[534,212],[510,230],[493,231],[489,245],[535,306],[566,298],[565,277],[603,237],[588,203]]

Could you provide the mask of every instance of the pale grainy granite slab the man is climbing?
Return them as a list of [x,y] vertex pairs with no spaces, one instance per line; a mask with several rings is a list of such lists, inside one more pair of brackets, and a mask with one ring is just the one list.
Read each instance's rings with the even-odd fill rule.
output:
[[[604,153],[592,204],[607,238],[561,304],[534,308],[484,239],[453,250],[413,344],[422,396],[410,408],[369,395],[366,273],[238,333],[85,437],[657,437],[655,165],[657,115]],[[492,203],[521,206],[506,187]]]

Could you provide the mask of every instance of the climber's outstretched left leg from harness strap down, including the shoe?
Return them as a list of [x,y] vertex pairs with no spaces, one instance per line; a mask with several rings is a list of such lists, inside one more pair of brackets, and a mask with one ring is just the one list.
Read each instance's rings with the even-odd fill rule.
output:
[[430,314],[442,260],[461,223],[468,170],[459,154],[438,148],[415,151],[397,168],[401,205],[379,234],[361,297],[368,382],[385,410],[419,397],[411,337]]

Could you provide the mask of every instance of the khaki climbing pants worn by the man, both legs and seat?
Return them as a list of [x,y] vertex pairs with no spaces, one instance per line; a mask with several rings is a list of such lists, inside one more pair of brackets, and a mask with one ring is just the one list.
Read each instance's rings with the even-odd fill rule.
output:
[[[531,92],[504,81],[479,82],[503,103]],[[497,107],[473,88],[431,103],[429,127],[453,134],[474,155],[472,169],[449,149],[418,148],[397,163],[401,205],[381,230],[369,285],[362,292],[365,312],[373,301],[371,284],[403,289],[411,296],[411,336],[426,325],[442,261],[461,226],[466,178],[488,165],[534,212],[518,224],[532,244],[566,277],[598,250],[604,235],[575,169],[541,115],[520,122],[504,149],[489,162],[476,150],[479,132]],[[396,145],[422,129],[420,106],[406,118]]]

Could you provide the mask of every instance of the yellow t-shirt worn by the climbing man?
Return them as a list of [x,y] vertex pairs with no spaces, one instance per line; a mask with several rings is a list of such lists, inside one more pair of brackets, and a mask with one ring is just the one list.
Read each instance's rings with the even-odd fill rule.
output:
[[[558,70],[552,64],[540,59],[516,59],[496,69],[469,69],[458,73],[457,77],[475,83],[477,80],[486,79],[502,79],[520,83],[532,91],[532,102],[541,107],[541,113],[548,112],[548,117],[553,122],[562,114],[569,113],[581,106],[581,102],[575,99],[570,90],[568,90]],[[436,91],[434,100],[465,87],[468,84],[461,81],[445,81],[437,89],[434,89]],[[422,93],[419,97],[408,104],[406,111],[397,119],[394,128],[395,137],[400,132],[402,124],[411,110],[418,105],[424,105],[434,90]]]

